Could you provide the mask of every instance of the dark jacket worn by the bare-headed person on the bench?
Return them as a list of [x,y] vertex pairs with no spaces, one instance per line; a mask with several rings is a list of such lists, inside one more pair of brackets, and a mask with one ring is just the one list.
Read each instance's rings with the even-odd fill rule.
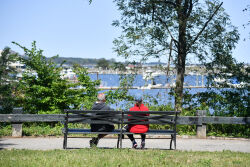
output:
[[[107,106],[105,103],[95,103],[92,106],[92,110],[113,110],[109,106]],[[107,113],[108,114],[108,113]],[[96,115],[103,115],[105,116],[106,114],[96,114]],[[111,132],[114,130],[114,125],[109,125],[109,124],[91,124],[91,131],[92,132]]]

